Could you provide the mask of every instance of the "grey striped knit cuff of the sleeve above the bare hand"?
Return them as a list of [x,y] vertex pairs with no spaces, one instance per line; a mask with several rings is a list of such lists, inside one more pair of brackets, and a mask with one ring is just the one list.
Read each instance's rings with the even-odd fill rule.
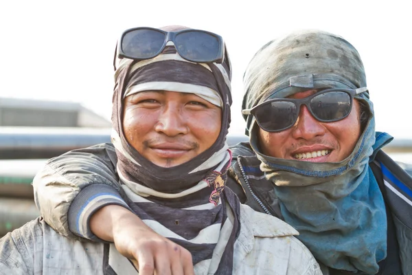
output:
[[123,206],[131,211],[119,192],[106,184],[91,184],[83,188],[69,207],[69,230],[78,236],[92,241],[104,242],[90,230],[90,218],[100,208],[108,205]]

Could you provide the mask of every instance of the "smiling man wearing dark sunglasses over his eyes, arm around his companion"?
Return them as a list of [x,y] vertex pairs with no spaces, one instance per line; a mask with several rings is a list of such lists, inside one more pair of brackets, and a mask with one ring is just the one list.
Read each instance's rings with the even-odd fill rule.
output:
[[[375,131],[356,49],[326,32],[288,34],[255,54],[244,87],[250,142],[231,148],[227,181],[240,201],[293,225],[324,274],[411,274],[412,179],[406,171],[412,169],[380,151],[392,137]],[[62,179],[52,169],[64,173],[67,186],[74,177],[83,179],[80,188],[68,188],[72,198],[85,200],[84,186],[111,185],[98,177],[110,174],[106,168],[87,178],[65,165],[76,159],[90,168],[115,166],[106,152],[84,152],[52,159],[34,180],[45,219],[67,235],[88,236],[70,223],[94,231],[115,211],[113,202],[95,203],[99,210],[87,215],[70,208],[73,199],[56,199],[49,183]],[[139,223],[131,214],[129,221]],[[131,234],[128,228],[122,228],[125,234]]]

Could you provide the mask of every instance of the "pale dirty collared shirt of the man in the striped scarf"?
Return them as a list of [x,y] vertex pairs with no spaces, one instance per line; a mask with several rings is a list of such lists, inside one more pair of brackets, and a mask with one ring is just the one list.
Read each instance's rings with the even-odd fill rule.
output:
[[[312,254],[293,234],[297,231],[283,221],[242,205],[233,274],[321,274]],[[0,274],[106,274],[108,245],[67,239],[38,218],[0,239]],[[211,263],[196,264],[195,274],[210,274],[224,247],[216,246]]]

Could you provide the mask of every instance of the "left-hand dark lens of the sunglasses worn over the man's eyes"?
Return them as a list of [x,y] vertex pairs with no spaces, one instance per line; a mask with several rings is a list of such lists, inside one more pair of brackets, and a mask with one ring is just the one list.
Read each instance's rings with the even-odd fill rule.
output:
[[292,126],[297,118],[297,107],[289,101],[274,101],[255,109],[255,118],[265,131],[279,131]]

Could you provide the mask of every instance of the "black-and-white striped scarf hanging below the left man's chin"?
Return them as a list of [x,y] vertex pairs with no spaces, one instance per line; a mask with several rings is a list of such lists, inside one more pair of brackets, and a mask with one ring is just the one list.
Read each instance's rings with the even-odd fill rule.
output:
[[[146,188],[119,173],[128,206],[155,232],[189,250],[194,265],[211,261],[218,241],[227,238],[222,258],[218,264],[211,263],[210,270],[216,274],[231,274],[233,243],[240,230],[240,202],[230,189],[225,189],[230,159],[228,153],[205,180],[178,194]],[[229,214],[235,217],[233,222]]]

